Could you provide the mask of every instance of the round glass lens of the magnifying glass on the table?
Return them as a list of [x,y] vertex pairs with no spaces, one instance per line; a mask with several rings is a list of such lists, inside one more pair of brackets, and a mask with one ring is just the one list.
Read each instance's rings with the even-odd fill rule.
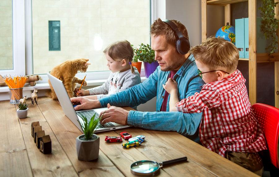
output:
[[154,161],[138,161],[131,165],[131,170],[137,173],[152,173],[160,168]]

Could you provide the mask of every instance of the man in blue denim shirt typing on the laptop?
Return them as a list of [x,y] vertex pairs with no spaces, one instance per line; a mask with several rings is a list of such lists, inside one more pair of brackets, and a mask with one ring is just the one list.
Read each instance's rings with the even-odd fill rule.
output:
[[[178,26],[184,37],[188,39],[186,27],[179,21],[172,21]],[[71,98],[73,103],[81,103],[75,107],[75,110],[108,106],[109,109],[100,114],[100,116],[103,115],[102,120],[100,120],[101,124],[116,122],[144,129],[176,131],[188,138],[199,141],[196,135],[194,137],[188,135],[195,134],[201,121],[201,113],[169,112],[169,94],[162,87],[162,84],[165,84],[171,77],[178,83],[179,100],[188,98],[195,92],[200,92],[204,82],[198,76],[195,59],[193,55],[189,55],[189,52],[182,55],[176,51],[175,41],[178,40],[178,36],[161,19],[155,20],[151,25],[150,35],[151,47],[155,51],[155,60],[160,65],[154,73],[141,84],[99,100],[89,100],[83,97]],[[126,111],[120,108],[123,106],[138,106],[155,96],[157,96],[157,112]],[[113,106],[110,106],[110,104]]]

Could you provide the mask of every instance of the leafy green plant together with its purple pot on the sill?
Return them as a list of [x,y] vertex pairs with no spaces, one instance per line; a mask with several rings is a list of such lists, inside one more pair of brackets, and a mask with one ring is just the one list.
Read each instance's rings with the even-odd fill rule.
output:
[[134,48],[134,52],[134,60],[144,62],[145,77],[148,78],[156,70],[157,66],[159,66],[155,60],[155,51],[151,49],[149,44],[141,43],[139,48]]

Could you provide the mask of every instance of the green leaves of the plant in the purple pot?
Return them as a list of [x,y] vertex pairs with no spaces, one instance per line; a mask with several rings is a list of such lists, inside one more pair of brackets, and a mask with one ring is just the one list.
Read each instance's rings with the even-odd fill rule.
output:
[[134,62],[138,62],[138,60],[148,63],[156,62],[155,51],[151,49],[151,46],[149,44],[145,45],[141,43],[139,45],[139,48],[134,48],[134,52]]

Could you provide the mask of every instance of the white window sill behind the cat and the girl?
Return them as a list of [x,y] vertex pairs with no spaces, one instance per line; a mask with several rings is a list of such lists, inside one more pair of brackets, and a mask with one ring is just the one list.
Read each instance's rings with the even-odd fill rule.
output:
[[[147,78],[145,77],[140,77],[141,79],[141,82],[143,82],[144,80],[146,80]],[[107,79],[99,79],[99,80],[86,80],[87,82],[87,86],[93,86],[93,87],[96,87],[96,86],[99,86],[99,85],[102,85]],[[77,84],[77,87],[79,87],[80,84]],[[38,88],[39,90],[39,95],[38,96],[44,96],[45,93],[46,93],[46,90],[47,89],[50,89],[49,87],[49,84],[48,83],[37,83],[35,86],[30,86],[29,83],[25,84],[24,85],[24,88],[23,88],[23,94],[24,95],[27,95],[28,98],[30,98],[31,96],[31,93],[33,92],[33,90],[35,88]],[[40,92],[44,90],[43,92]],[[8,100],[10,99],[10,94],[9,94],[10,90],[8,88],[8,86],[6,87],[0,87],[0,100]]]

